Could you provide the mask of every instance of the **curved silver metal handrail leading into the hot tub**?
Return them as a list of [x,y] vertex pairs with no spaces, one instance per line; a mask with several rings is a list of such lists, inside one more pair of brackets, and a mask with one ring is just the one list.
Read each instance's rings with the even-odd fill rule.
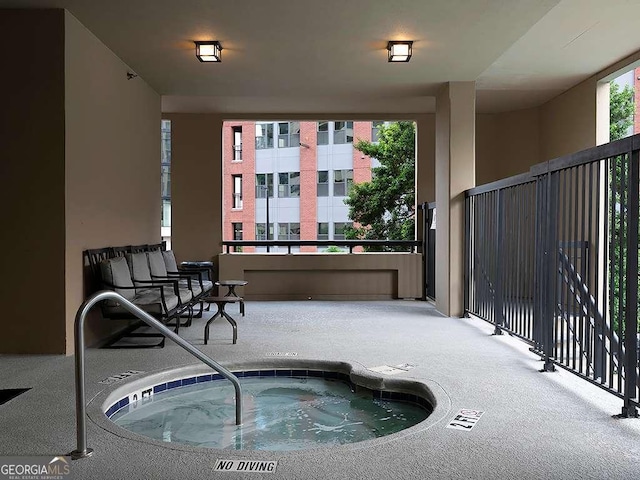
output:
[[233,383],[233,386],[236,390],[236,425],[242,424],[242,389],[240,387],[240,381],[238,377],[236,377],[229,370],[224,368],[222,365],[217,363],[215,360],[209,358],[207,355],[202,353],[200,350],[195,348],[186,340],[180,338],[179,335],[175,334],[171,330],[169,330],[166,326],[164,326],[161,322],[153,318],[144,310],[141,310],[139,307],[131,303],[129,300],[124,298],[119,293],[110,291],[110,290],[102,290],[94,293],[89,298],[87,298],[78,311],[76,313],[75,320],[75,355],[76,355],[76,434],[77,434],[77,448],[70,453],[71,458],[77,460],[79,458],[85,458],[93,454],[93,449],[87,448],[87,425],[85,423],[86,419],[86,396],[84,390],[84,319],[87,316],[87,313],[91,308],[98,302],[102,300],[116,300],[121,307],[125,310],[128,310],[130,313],[138,317],[140,320],[145,322],[150,327],[155,328],[160,333],[162,333],[165,337],[170,338],[182,348],[184,348],[191,355],[196,357],[201,362],[210,366],[218,373],[220,373],[223,377]]

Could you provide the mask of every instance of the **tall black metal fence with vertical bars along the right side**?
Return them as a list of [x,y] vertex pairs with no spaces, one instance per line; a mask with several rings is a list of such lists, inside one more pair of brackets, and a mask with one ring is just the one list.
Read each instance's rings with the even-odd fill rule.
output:
[[639,406],[640,135],[466,192],[465,310]]

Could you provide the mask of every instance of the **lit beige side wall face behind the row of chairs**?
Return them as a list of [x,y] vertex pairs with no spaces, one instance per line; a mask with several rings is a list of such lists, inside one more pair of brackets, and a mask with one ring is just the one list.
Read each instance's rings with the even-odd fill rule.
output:
[[[85,298],[82,251],[160,241],[160,96],[65,13],[66,338]],[[96,307],[96,311],[99,308]],[[91,344],[119,324],[95,314]]]

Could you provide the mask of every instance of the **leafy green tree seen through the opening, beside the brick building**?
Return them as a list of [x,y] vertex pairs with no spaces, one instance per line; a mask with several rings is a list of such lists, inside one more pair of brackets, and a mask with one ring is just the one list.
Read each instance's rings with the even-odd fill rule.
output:
[[[381,126],[378,143],[359,140],[354,148],[377,159],[370,182],[351,187],[344,203],[359,224],[345,229],[347,239],[413,240],[415,231],[415,124]],[[390,247],[385,250],[402,250]]]

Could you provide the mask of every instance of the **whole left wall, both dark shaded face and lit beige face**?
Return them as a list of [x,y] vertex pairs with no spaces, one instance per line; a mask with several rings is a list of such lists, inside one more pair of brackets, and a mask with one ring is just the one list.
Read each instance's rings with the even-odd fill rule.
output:
[[[82,250],[159,241],[160,97],[63,10],[2,10],[0,38],[0,353],[69,354]],[[92,320],[88,343],[113,327]]]

